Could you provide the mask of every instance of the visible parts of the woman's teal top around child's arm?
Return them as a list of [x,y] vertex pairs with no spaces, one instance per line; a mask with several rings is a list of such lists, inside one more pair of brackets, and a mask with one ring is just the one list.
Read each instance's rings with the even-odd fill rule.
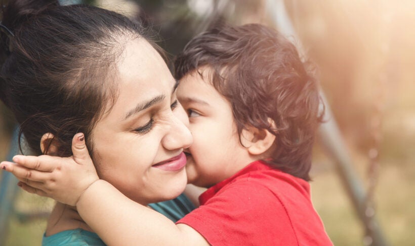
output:
[[[184,195],[165,202],[152,203],[148,205],[155,211],[165,215],[173,222],[183,218],[195,209],[194,205]],[[105,246],[98,234],[80,228],[61,231],[56,234],[43,235],[42,246]]]

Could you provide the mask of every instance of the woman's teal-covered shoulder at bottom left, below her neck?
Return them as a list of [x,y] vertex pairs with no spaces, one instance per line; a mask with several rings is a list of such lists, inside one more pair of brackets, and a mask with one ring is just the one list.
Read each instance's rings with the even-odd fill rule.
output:
[[73,229],[58,232],[56,234],[46,236],[44,234],[42,246],[105,246],[105,243],[99,236],[91,231],[83,229]]

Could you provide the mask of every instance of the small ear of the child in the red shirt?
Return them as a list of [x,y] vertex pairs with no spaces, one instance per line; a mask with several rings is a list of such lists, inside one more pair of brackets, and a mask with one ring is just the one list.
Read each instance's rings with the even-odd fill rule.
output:
[[261,155],[269,150],[275,141],[275,135],[266,129],[247,127],[241,132],[241,143],[251,155]]

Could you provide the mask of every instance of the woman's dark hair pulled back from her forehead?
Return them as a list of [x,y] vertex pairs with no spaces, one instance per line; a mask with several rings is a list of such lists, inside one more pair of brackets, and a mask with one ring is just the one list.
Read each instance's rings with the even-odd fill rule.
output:
[[9,1],[2,12],[0,99],[20,124],[19,139],[42,154],[40,139],[52,133],[54,154],[70,156],[72,137],[82,132],[92,151],[92,129],[117,97],[113,65],[126,42],[148,40],[149,30],[108,10],[54,0]]

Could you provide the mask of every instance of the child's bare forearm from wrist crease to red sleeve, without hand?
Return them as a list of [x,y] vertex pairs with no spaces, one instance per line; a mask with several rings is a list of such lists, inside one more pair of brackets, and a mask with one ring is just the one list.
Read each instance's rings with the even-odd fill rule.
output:
[[78,213],[108,245],[209,245],[191,227],[142,206],[104,180],[76,204]]

